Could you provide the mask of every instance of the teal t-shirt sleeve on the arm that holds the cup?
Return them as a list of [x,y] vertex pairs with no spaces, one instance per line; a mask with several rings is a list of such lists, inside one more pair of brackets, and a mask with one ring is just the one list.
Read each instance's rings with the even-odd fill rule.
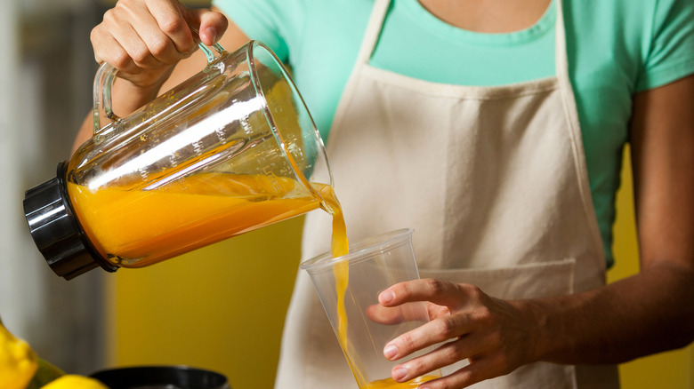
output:
[[645,91],[694,74],[694,1],[658,0],[636,83]]

